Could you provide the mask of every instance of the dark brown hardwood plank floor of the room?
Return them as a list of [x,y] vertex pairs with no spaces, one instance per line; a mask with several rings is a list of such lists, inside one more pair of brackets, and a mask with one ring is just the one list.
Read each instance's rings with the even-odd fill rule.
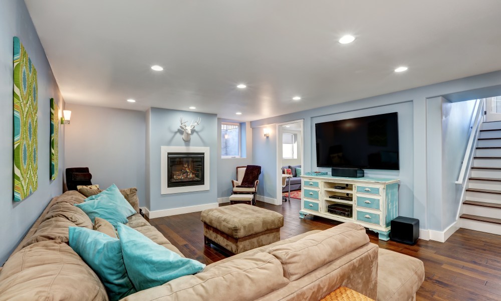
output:
[[[229,205],[229,203],[221,204]],[[336,221],[307,216],[299,218],[301,201],[275,206],[257,202],[257,206],[284,215],[281,239],[311,230],[325,230]],[[200,212],[150,220],[186,257],[205,264],[227,257],[222,251],[205,246]],[[501,300],[501,236],[459,229],[445,243],[418,240],[414,246],[394,241],[379,241],[367,231],[371,242],[421,259],[425,280],[417,292],[417,300]]]

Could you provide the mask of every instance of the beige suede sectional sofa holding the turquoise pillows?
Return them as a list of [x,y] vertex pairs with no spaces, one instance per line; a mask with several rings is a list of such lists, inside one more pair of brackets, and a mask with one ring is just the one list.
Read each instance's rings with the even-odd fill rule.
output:
[[[97,275],[66,244],[68,226],[93,226],[73,206],[84,199],[70,191],[51,201],[0,269],[0,300],[108,299]],[[128,220],[183,256],[139,214]],[[347,286],[373,299],[406,301],[415,299],[423,279],[420,260],[379,249],[363,227],[345,223],[228,257],[124,300],[319,300]]]

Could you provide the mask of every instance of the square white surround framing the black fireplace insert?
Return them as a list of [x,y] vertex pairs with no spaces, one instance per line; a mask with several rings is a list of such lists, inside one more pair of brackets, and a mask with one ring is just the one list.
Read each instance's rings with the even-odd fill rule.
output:
[[[169,153],[204,153],[204,184],[184,187],[168,187],[168,160]],[[209,190],[209,147],[196,146],[161,146],[160,158],[160,183],[161,194],[183,193],[192,191]]]

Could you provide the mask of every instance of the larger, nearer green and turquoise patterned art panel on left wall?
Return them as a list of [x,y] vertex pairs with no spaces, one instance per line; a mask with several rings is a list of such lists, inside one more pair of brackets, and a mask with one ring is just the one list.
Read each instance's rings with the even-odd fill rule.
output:
[[14,201],[38,187],[37,70],[14,37]]

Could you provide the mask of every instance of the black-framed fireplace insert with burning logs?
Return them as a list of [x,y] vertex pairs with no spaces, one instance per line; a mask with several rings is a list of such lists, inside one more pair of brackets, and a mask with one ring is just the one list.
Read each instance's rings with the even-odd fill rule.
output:
[[204,185],[204,153],[168,153],[167,186]]

